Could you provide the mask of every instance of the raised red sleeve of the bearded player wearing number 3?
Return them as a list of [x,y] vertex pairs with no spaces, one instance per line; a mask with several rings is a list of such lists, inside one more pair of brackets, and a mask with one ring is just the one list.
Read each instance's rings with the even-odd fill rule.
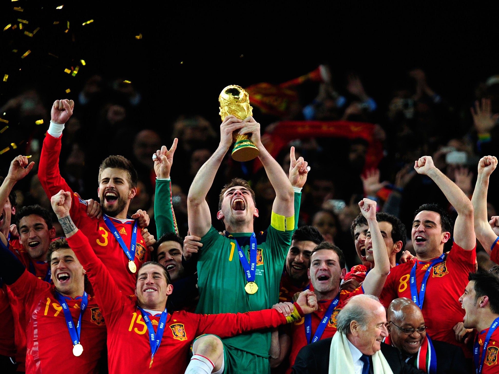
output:
[[47,133],[41,148],[40,163],[38,165],[38,179],[49,199],[61,189],[71,192],[73,198],[69,215],[77,225],[80,216],[80,210],[78,209],[79,199],[76,198],[73,190],[68,186],[64,178],[61,177],[59,171],[60,152],[61,138],[54,138]]

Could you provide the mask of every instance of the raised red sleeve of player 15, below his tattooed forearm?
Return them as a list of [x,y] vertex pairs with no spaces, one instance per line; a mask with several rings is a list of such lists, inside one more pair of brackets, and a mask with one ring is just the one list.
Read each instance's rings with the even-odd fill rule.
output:
[[104,319],[112,323],[115,319],[120,318],[126,297],[116,286],[109,270],[95,255],[87,237],[81,230],[67,238],[67,242],[85,269]]

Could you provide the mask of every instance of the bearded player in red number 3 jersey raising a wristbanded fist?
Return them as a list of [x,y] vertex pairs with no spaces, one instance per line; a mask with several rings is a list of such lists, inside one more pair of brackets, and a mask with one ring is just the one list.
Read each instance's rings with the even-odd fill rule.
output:
[[[62,130],[73,113],[73,107],[72,100],[56,100],[52,106],[38,169],[38,178],[48,197],[61,189],[71,190],[60,176],[58,165]],[[84,214],[85,202],[73,199],[71,217],[88,237],[97,256],[112,271],[120,290],[133,295],[137,269],[150,259],[146,250],[148,244],[138,227],[149,223],[148,218],[144,218],[145,212],[139,210],[132,219],[127,217],[130,201],[137,193],[138,175],[124,157],[109,156],[99,168],[98,182],[97,193],[103,216],[87,217]],[[139,217],[139,220],[135,219]]]

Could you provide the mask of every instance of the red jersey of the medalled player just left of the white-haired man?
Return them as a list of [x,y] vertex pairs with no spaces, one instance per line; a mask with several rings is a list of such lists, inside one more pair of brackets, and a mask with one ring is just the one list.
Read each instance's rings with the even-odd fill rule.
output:
[[[329,318],[329,322],[327,323],[324,332],[319,340],[331,338],[336,333],[336,317],[346,301],[355,295],[362,295],[364,293],[364,289],[362,286],[356,288],[354,291],[340,291],[340,299],[338,300],[338,304],[333,310],[331,317]],[[332,300],[321,300],[318,302],[319,309],[312,313],[312,333],[311,337],[314,336],[315,331],[317,331],[317,327],[319,326],[320,321],[324,318],[326,314],[327,308],[329,304],[331,304]],[[302,318],[299,322],[294,322],[292,325],[292,337],[291,337],[291,353],[289,354],[289,368],[286,371],[286,374],[291,373],[291,368],[294,365],[294,360],[296,360],[296,356],[298,356],[298,352],[300,349],[307,345],[307,338],[305,334],[305,318]]]

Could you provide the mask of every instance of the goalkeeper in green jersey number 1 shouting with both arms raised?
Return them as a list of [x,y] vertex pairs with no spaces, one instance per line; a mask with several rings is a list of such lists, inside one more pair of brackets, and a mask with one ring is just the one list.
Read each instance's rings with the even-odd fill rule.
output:
[[[269,308],[278,301],[279,280],[295,226],[294,190],[280,165],[261,143],[260,125],[252,117],[239,120],[227,116],[220,132],[219,147],[194,178],[187,200],[190,233],[201,237],[203,243],[198,251],[200,299],[196,312],[213,314]],[[217,217],[225,224],[225,236],[212,226],[206,201],[231,147],[234,132],[251,135],[250,140],[259,150],[258,158],[276,194],[270,226],[257,235],[253,232],[253,220],[258,216],[258,209],[254,192],[246,181],[233,180],[220,194]],[[299,158],[293,174],[306,179],[306,168],[306,162]],[[226,339],[224,348],[225,373],[269,372],[270,333],[256,332]]]

